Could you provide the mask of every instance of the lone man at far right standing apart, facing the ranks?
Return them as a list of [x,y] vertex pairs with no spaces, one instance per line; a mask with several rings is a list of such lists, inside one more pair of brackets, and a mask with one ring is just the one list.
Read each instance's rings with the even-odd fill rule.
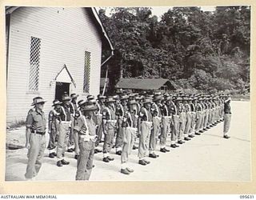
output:
[[223,128],[223,138],[230,138],[229,130],[230,130],[230,122],[231,122],[231,106],[230,106],[231,98],[227,96],[224,101],[224,128]]

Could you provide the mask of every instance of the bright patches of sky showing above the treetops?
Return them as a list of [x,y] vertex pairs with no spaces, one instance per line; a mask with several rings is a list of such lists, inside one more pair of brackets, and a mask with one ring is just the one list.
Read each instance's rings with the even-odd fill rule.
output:
[[[201,7],[201,10],[203,11],[214,11],[215,6],[199,6]],[[154,6],[151,7],[152,15],[158,16],[158,18],[161,18],[162,14],[166,13],[170,8],[173,8],[173,6]],[[99,10],[99,8],[97,8]],[[110,14],[110,7],[106,8],[106,15]]]

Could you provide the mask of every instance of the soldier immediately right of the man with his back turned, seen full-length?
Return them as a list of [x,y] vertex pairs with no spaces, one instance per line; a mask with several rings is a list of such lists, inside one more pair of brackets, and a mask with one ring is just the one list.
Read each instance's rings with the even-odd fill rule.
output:
[[114,158],[111,158],[109,154],[110,150],[114,145],[114,133],[117,126],[117,117],[114,110],[114,102],[114,98],[106,98],[106,106],[102,111],[104,133],[103,162],[110,162],[114,160]]

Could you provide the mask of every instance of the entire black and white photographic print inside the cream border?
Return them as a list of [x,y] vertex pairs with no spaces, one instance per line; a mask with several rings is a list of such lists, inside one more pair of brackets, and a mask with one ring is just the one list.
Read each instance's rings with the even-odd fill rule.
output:
[[251,6],[5,6],[6,182],[250,182]]

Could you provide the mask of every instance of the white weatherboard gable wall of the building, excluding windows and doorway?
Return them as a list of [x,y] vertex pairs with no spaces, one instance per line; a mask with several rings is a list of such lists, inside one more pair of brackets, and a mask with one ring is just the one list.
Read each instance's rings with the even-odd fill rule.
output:
[[[28,90],[30,37],[41,38],[38,93]],[[7,81],[7,122],[26,118],[32,98],[46,99],[48,115],[54,100],[55,84],[50,82],[66,64],[76,88],[83,94],[84,52],[90,51],[90,94],[97,95],[100,84],[102,40],[85,8],[21,7],[10,17],[10,54]]]

